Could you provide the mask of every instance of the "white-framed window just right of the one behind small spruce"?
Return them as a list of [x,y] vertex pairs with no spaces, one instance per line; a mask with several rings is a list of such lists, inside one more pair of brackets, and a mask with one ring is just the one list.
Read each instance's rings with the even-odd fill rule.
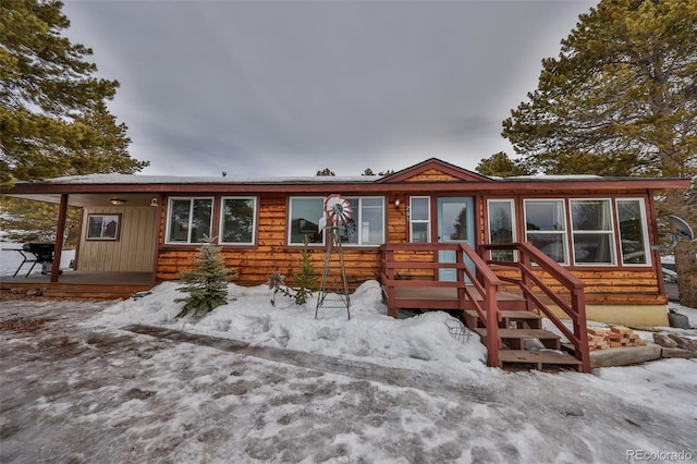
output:
[[220,240],[228,245],[253,245],[256,231],[255,197],[223,197],[220,210]]

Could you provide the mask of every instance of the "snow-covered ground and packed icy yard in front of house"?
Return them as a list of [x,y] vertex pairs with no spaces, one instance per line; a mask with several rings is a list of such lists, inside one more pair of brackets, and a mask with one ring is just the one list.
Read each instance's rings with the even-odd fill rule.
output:
[[[486,367],[476,335],[452,337],[445,313],[388,317],[377,282],[352,294],[351,320],[345,307],[315,319],[314,301],[279,295],[273,307],[268,286],[234,284],[228,305],[175,320],[175,289],[117,303],[0,302],[0,323],[46,320],[0,326],[0,462],[697,460],[697,359],[506,373]],[[697,310],[671,306],[697,326]],[[304,363],[123,330],[133,323]]]

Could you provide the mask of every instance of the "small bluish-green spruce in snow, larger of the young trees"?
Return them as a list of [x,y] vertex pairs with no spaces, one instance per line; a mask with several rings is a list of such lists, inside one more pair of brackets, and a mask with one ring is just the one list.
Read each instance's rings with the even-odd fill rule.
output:
[[225,267],[224,258],[219,255],[220,247],[213,245],[213,240],[204,236],[204,243],[198,248],[199,256],[193,259],[196,266],[180,272],[184,286],[176,290],[188,293],[188,296],[176,300],[186,302],[178,318],[189,312],[194,316],[203,316],[228,303],[228,282],[234,272]]

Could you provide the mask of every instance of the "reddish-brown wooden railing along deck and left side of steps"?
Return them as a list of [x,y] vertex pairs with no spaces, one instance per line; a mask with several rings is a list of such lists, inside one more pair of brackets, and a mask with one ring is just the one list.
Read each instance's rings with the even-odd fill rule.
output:
[[[439,269],[455,269],[456,279],[454,282],[419,280],[427,282],[429,286],[455,288],[457,292],[457,306],[465,309],[465,302],[474,307],[479,320],[487,329],[487,351],[489,366],[500,367],[499,349],[501,340],[499,338],[499,322],[501,314],[497,303],[497,293],[501,286],[501,279],[489,268],[487,262],[466,243],[386,243],[380,246],[382,253],[382,270],[381,280],[387,286],[388,306],[395,305],[395,285],[405,284],[405,281],[399,281],[395,278],[396,269],[432,269],[438,272]],[[437,259],[438,252],[452,251],[455,252],[455,262],[439,262]],[[395,261],[395,252],[427,252],[432,253],[431,261],[404,260]],[[409,254],[409,256],[413,256]],[[474,265],[474,270],[469,269],[465,262],[466,256]],[[465,279],[467,278],[467,279]],[[467,282],[467,280],[469,282]],[[414,283],[411,280],[409,283]],[[473,289],[481,296],[479,301]]]

